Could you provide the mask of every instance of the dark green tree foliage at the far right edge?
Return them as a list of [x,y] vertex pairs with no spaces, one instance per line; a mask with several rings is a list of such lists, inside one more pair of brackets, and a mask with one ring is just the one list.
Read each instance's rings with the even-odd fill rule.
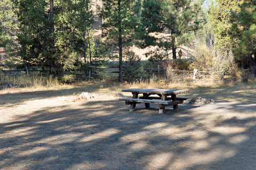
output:
[[231,15],[233,53],[240,66],[254,67],[256,73],[256,1],[244,1],[239,7],[241,11]]

